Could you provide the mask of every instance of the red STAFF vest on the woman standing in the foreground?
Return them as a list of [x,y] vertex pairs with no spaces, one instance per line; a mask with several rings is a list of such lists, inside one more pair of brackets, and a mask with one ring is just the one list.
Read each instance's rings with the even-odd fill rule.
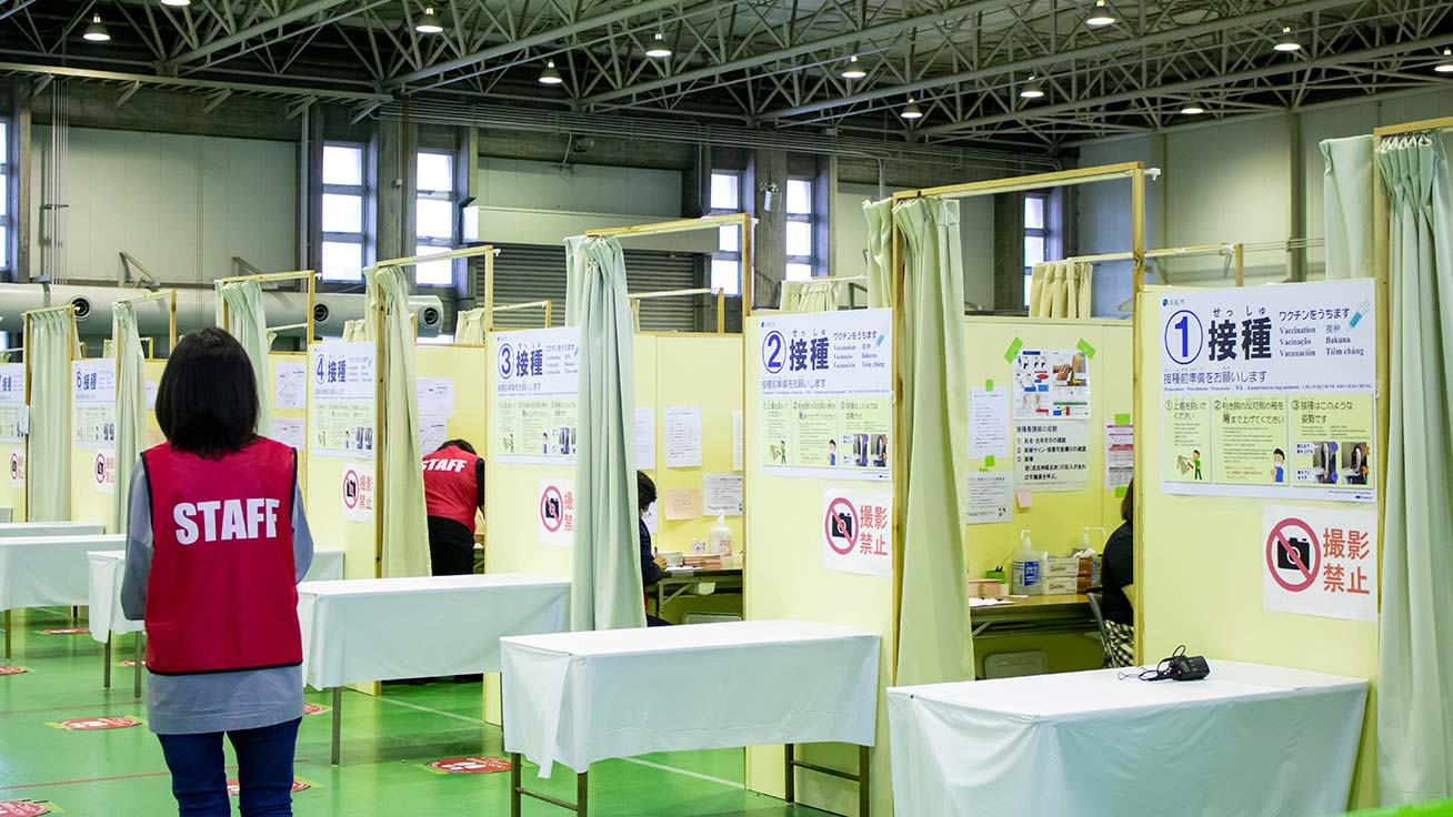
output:
[[298,460],[257,440],[208,460],[157,446],[151,489],[147,666],[158,675],[302,663],[292,560]]

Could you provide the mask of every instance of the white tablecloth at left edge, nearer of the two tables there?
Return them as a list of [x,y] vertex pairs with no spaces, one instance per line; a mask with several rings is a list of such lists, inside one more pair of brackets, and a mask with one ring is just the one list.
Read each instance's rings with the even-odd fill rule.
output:
[[87,604],[86,554],[125,546],[119,534],[0,538],[0,609]]

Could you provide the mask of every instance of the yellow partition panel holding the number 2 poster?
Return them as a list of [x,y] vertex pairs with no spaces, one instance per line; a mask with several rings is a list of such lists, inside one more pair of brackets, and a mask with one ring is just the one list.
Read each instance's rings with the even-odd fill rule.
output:
[[[761,319],[747,321],[744,356],[761,348]],[[882,636],[879,659],[878,747],[872,763],[872,810],[892,813],[888,763],[888,710],[882,688],[891,681],[894,654],[894,586],[889,576],[840,573],[822,566],[822,495],[830,486],[889,490],[888,483],[783,477],[763,472],[761,395],[757,377],[745,377],[747,549],[745,608],[748,620],[796,618],[857,627]],[[802,679],[811,683],[811,679]],[[824,766],[856,769],[857,747],[812,744],[798,756]],[[782,797],[780,746],[747,749],[747,788]],[[834,814],[857,813],[857,785],[812,772],[798,773],[798,801]]]

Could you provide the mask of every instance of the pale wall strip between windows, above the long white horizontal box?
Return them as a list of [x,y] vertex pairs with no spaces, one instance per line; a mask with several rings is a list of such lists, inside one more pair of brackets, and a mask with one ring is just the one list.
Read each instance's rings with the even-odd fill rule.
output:
[[479,200],[487,208],[680,218],[681,173],[479,158]]

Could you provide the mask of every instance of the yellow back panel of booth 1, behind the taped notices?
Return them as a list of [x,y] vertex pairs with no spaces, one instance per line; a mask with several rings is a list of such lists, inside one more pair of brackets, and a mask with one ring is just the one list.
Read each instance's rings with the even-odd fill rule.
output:
[[[1013,369],[1014,356],[1010,350],[1019,344],[1029,350],[1078,350],[1084,342],[1090,374],[1090,418],[1088,424],[1088,472],[1087,485],[1074,492],[1032,493],[1030,508],[1014,504],[1014,518],[1008,522],[966,525],[965,547],[969,576],[984,576],[987,570],[1003,567],[1005,578],[1011,573],[1013,551],[1019,547],[1021,530],[1030,531],[1035,550],[1051,556],[1068,554],[1080,544],[1084,528],[1090,531],[1090,544],[1103,550],[1104,540],[1120,525],[1120,496],[1104,483],[1104,427],[1116,419],[1128,421],[1132,396],[1132,341],[1133,329],[1128,321],[1049,321],[1039,318],[965,318],[965,342],[968,344],[969,386],[985,387],[988,380],[995,389],[1010,389],[1010,456],[997,457],[992,464],[984,459],[971,459],[974,472],[981,469],[1004,472],[1013,479],[1014,434],[1013,434]],[[1091,356],[1090,351],[1094,354]],[[975,672],[985,675],[984,660],[997,653],[1020,650],[1042,650],[1049,672],[1072,672],[1097,669],[1103,660],[1100,643],[1078,634],[1049,636],[1004,636],[981,639],[975,644]]]

